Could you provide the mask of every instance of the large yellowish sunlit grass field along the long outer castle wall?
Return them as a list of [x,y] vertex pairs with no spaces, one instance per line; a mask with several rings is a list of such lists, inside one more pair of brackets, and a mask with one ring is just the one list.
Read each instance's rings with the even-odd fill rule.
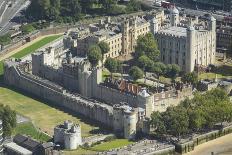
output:
[[80,123],[84,137],[91,135],[89,132],[97,128],[59,109],[3,87],[0,87],[0,103],[9,105],[17,113],[29,117],[38,128],[48,134],[53,134],[53,128],[64,120]]

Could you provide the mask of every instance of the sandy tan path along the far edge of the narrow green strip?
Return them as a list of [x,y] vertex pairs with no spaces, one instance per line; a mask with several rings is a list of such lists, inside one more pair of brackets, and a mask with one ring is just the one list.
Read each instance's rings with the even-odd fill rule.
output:
[[[63,34],[63,33],[62,33],[62,34]],[[40,41],[40,40],[42,40],[42,39],[44,39],[44,38],[46,38],[46,37],[54,36],[54,35],[60,35],[60,34],[51,34],[51,35],[40,36],[40,37],[38,37],[38,38],[32,40],[31,42],[28,42],[28,43],[24,44],[23,46],[20,46],[19,48],[15,49],[15,50],[13,50],[13,51],[11,51],[11,52],[8,52],[8,53],[6,53],[6,54],[0,55],[0,61],[4,60],[4,59],[6,59],[6,58],[11,57],[11,56],[14,55],[15,53],[17,53],[17,52],[23,50],[24,48],[27,48],[27,47],[31,46],[32,44],[34,44],[34,43],[36,43],[36,42],[38,42],[38,41]]]

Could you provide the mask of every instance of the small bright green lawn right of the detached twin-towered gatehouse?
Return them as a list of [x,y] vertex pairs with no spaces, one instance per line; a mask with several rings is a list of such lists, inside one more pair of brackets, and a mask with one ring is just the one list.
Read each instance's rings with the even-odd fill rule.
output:
[[94,151],[107,151],[110,149],[114,149],[114,148],[119,148],[119,147],[123,147],[123,146],[127,146],[129,144],[132,144],[133,142],[127,140],[127,139],[116,139],[110,142],[106,142],[106,143],[102,143],[99,145],[96,145],[92,148],[90,148],[91,150]]

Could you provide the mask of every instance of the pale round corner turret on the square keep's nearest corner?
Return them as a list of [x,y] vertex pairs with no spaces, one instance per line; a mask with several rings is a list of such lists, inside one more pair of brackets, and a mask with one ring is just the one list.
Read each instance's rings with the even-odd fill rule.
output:
[[186,39],[186,72],[194,71],[195,65],[197,65],[197,60],[195,59],[195,41],[196,40],[196,30],[190,25],[187,28],[187,39]]

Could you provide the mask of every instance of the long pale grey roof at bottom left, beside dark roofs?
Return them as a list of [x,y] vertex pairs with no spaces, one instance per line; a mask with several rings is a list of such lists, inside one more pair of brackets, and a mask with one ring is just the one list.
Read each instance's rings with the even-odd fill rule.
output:
[[14,152],[18,153],[18,154],[23,154],[23,155],[32,155],[32,152],[17,145],[14,142],[11,143],[7,143],[4,145],[5,148],[13,150]]

